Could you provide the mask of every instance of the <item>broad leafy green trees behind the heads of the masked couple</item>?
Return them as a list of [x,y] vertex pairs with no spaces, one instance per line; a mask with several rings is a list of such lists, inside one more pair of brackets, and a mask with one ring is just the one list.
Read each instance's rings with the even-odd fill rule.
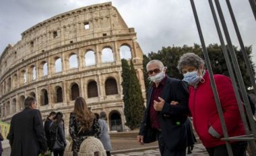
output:
[[[227,48],[228,49],[228,48]],[[247,55],[250,60],[251,67],[253,68],[253,74],[255,75],[255,64],[252,62],[252,48],[251,46],[245,48]],[[239,68],[241,70],[241,74],[243,76],[243,80],[245,82],[245,86],[248,88],[251,86],[251,81],[249,80],[249,74],[247,72],[247,68],[245,66],[245,61],[243,60],[243,54],[241,53],[241,50],[238,50],[237,47],[234,46],[234,51],[236,53],[236,58],[239,62]],[[183,75],[179,73],[177,70],[177,64],[179,61],[179,58],[187,53],[187,52],[193,52],[204,59],[202,49],[199,45],[194,44],[194,46],[183,46],[183,47],[167,47],[162,48],[162,50],[158,50],[157,53],[151,52],[148,54],[148,56],[144,56],[143,59],[146,61],[143,61],[143,68],[146,68],[146,64],[150,60],[161,60],[164,64],[164,66],[167,67],[166,74],[172,78],[178,78],[183,79]],[[218,44],[210,44],[207,46],[207,52],[210,58],[212,70],[214,74],[224,74],[226,76],[229,76],[228,74],[228,68],[226,66],[226,60],[224,59],[224,55],[222,53],[222,48]],[[145,83],[146,88],[149,87],[150,84]]]

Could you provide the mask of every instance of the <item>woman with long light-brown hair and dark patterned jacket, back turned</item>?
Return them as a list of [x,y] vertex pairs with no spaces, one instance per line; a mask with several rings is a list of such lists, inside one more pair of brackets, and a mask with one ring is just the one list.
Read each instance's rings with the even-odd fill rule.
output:
[[79,147],[84,139],[89,136],[98,138],[100,131],[98,119],[88,109],[86,100],[82,97],[77,97],[74,110],[70,113],[69,118],[69,133],[73,141],[73,156],[77,156]]

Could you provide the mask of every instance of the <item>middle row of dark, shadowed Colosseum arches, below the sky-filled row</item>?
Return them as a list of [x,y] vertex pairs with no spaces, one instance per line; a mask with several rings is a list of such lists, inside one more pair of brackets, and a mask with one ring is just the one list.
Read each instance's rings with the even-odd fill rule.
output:
[[[118,88],[117,88],[117,81],[115,78],[107,78],[104,83],[104,89],[106,96],[113,95],[113,94],[119,94]],[[53,102],[59,103],[63,102],[63,88],[61,86],[55,86],[55,89],[53,90]],[[77,96],[80,96],[80,88],[79,85],[75,82],[71,83],[71,86],[69,90],[69,100],[75,100]],[[29,96],[34,96],[36,98],[35,92],[30,92]],[[38,104],[40,106],[45,106],[50,104],[49,98],[50,98],[49,91],[46,88],[42,88],[38,92]],[[95,80],[91,80],[87,85],[87,98],[94,98],[98,97],[98,84]],[[7,116],[9,114],[13,114],[18,110],[22,110],[24,108],[24,100],[25,96],[22,95],[19,97],[19,102],[17,105],[16,98],[13,98],[11,103],[9,101],[3,103],[3,109],[2,114],[4,116]]]

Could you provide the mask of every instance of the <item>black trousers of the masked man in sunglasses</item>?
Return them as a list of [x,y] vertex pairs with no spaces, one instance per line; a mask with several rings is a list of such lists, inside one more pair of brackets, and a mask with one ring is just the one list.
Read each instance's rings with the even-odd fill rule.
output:
[[161,153],[161,156],[185,156],[186,155],[186,149],[179,150],[179,151],[173,151],[170,150],[166,143],[164,142],[164,136],[162,136],[161,132],[158,132],[158,146]]

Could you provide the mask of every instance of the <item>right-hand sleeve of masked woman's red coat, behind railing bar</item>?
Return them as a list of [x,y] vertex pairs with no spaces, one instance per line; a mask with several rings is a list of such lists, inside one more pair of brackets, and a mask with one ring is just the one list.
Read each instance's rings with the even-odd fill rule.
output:
[[[236,122],[241,120],[241,115],[238,109],[238,104],[236,102],[234,89],[231,80],[226,76],[216,75],[214,76],[214,80],[216,82],[220,103],[222,104],[222,112],[224,115],[226,128],[228,131],[231,131],[232,129],[237,127]],[[213,123],[212,127],[221,136],[223,136],[220,118],[218,118]]]

